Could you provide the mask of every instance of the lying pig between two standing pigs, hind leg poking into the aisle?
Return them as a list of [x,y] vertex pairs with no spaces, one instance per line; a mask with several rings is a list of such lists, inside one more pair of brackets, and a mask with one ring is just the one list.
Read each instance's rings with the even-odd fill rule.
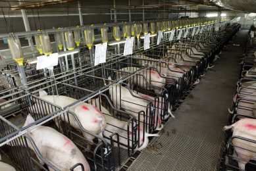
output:
[[[99,97],[97,99],[91,99],[91,104],[95,105],[96,107],[99,107],[101,109],[101,112],[105,114],[107,126],[105,128],[105,131],[103,132],[103,135],[105,137],[109,137],[113,133],[118,133],[119,135],[119,142],[120,142],[120,147],[127,149],[128,147],[128,135],[127,135],[127,125],[128,122],[124,122],[122,120],[118,120],[111,116],[109,111],[105,109],[101,104],[99,104]],[[129,126],[129,138],[130,138],[130,147],[132,147],[132,126]],[[143,137],[143,134],[144,137]],[[138,135],[138,132],[137,132]],[[155,137],[159,136],[159,134],[148,134],[147,132],[143,131],[143,125],[140,124],[140,137],[138,137],[138,143],[137,147],[135,150],[141,151],[145,149],[149,143],[148,137]],[[106,139],[108,143],[111,143],[109,139]],[[116,136],[113,136],[113,140],[117,141]],[[114,143],[115,147],[118,146],[117,143]],[[141,146],[141,147],[139,147]]]

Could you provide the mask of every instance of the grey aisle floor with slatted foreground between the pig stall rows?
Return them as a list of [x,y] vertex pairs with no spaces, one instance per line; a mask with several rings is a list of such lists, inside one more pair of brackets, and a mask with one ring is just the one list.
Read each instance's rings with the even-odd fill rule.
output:
[[[200,83],[129,170],[218,170],[220,145],[240,72],[247,30],[236,34]],[[240,44],[240,47],[232,45]]]

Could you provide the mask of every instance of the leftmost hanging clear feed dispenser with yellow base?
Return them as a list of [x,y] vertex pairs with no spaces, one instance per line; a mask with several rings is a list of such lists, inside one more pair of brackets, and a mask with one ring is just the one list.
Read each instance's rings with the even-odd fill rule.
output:
[[23,51],[20,45],[20,39],[18,39],[18,37],[9,38],[8,45],[14,61],[16,61],[19,66],[22,66],[24,57],[23,57]]

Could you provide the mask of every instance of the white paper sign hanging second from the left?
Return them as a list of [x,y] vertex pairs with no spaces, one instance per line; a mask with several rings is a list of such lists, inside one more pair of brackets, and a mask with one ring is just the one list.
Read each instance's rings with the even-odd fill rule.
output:
[[105,63],[107,55],[107,43],[100,43],[95,45],[95,59],[94,66]]

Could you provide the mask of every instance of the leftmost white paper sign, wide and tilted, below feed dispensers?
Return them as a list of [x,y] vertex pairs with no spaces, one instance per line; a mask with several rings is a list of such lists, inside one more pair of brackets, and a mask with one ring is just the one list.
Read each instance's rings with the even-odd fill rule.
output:
[[53,70],[53,66],[58,65],[58,56],[58,53],[53,53],[49,56],[39,56],[38,63],[36,64],[36,69],[41,70],[43,68],[48,68],[49,70]]

